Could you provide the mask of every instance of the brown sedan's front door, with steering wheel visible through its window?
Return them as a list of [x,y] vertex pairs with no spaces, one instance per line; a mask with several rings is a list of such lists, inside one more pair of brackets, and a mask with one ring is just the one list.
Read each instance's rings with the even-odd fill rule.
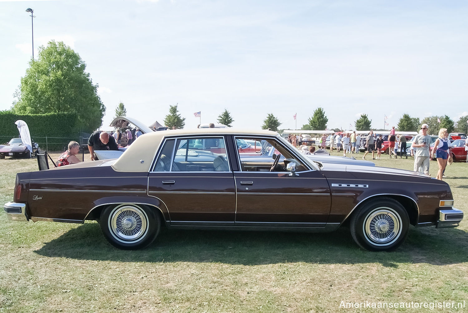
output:
[[[326,178],[292,153],[294,148],[286,148],[277,139],[263,139],[263,142],[268,148],[262,153],[249,156],[237,153],[240,171],[234,172],[236,225],[324,227],[331,205]],[[271,168],[273,153],[281,155],[281,159]],[[292,161],[297,165],[298,176],[290,176],[286,171],[285,167]]]

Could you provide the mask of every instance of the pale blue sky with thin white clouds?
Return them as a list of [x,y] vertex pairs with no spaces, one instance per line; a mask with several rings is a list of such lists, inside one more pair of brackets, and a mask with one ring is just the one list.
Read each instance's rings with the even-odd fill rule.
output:
[[[106,106],[163,124],[178,105],[185,128],[259,129],[267,114],[300,129],[318,107],[328,128],[353,130],[468,115],[468,2],[431,0],[0,0],[0,110],[34,56],[63,41],[86,63]],[[297,113],[297,119],[293,116]]]

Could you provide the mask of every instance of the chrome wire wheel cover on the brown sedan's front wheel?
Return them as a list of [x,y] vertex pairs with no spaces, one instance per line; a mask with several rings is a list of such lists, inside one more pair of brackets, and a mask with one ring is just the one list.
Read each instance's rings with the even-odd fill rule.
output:
[[387,246],[400,238],[402,219],[393,209],[379,207],[367,214],[363,233],[367,241],[378,246]]

